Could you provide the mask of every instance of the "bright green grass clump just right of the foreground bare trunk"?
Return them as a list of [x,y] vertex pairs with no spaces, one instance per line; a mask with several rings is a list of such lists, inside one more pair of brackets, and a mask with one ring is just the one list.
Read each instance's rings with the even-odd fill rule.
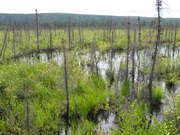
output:
[[[76,94],[77,93],[77,94]],[[102,78],[93,77],[90,81],[79,82],[70,101],[73,116],[93,119],[100,107],[105,108],[107,92]],[[77,116],[76,116],[77,117]]]

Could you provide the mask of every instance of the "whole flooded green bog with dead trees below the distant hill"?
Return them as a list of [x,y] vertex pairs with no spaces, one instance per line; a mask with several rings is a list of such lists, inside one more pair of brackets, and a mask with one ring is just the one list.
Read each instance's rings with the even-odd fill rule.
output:
[[180,134],[177,23],[41,27],[34,17],[0,27],[0,134]]

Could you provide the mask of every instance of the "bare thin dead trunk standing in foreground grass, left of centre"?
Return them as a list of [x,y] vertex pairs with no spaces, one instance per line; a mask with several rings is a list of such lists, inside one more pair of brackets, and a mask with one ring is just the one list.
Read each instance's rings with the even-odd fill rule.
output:
[[69,126],[69,87],[68,87],[68,73],[67,73],[67,56],[66,56],[66,47],[65,40],[61,41],[63,45],[63,55],[64,55],[64,79],[65,79],[65,89],[66,89],[66,127]]

